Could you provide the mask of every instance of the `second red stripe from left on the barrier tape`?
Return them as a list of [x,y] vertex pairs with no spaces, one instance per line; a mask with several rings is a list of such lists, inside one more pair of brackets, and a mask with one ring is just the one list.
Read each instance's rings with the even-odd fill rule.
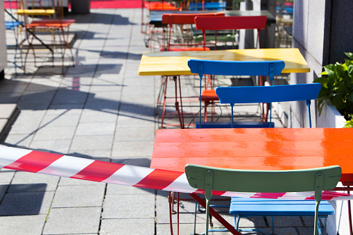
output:
[[92,164],[89,164],[82,171],[71,176],[70,178],[102,182],[123,166],[125,165],[112,162],[94,161]]

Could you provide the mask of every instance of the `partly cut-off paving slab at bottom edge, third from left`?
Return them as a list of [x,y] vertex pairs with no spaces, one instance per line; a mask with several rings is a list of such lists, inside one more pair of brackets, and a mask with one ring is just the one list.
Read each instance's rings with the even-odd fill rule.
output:
[[155,220],[153,218],[139,219],[103,219],[101,235],[115,234],[155,234]]

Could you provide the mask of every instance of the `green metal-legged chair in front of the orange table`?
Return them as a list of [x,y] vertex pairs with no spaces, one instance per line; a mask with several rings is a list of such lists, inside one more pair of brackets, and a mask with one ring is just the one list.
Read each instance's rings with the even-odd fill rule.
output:
[[322,190],[331,190],[341,179],[340,166],[290,171],[251,171],[187,164],[187,180],[195,189],[205,189],[206,234],[212,191],[284,193],[315,191],[314,235],[318,234],[318,207]]

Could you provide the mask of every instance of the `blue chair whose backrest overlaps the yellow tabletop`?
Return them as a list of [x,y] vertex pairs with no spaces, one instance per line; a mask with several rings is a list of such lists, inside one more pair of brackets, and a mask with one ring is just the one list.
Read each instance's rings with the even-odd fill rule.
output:
[[[205,97],[203,97],[202,94],[209,95],[214,93],[212,90],[202,91],[202,80],[204,74],[225,76],[270,76],[270,82],[272,85],[273,78],[276,75],[280,75],[284,69],[284,62],[281,60],[251,62],[189,60],[188,66],[191,70],[191,73],[198,73],[198,76],[200,76],[200,122],[196,123],[196,128],[201,128],[201,126],[202,128],[212,128],[212,123],[202,123],[202,101],[205,101]],[[224,126],[224,128],[230,128],[230,125],[228,127]],[[246,128],[246,126],[244,126],[244,128]]]

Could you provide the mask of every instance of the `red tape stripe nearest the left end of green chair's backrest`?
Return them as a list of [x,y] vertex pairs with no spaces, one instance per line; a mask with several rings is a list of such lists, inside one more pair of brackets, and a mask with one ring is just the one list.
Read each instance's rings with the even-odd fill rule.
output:
[[134,186],[162,190],[166,188],[166,186],[169,186],[169,184],[173,183],[180,175],[182,175],[182,172],[155,169],[155,171],[149,173]]

